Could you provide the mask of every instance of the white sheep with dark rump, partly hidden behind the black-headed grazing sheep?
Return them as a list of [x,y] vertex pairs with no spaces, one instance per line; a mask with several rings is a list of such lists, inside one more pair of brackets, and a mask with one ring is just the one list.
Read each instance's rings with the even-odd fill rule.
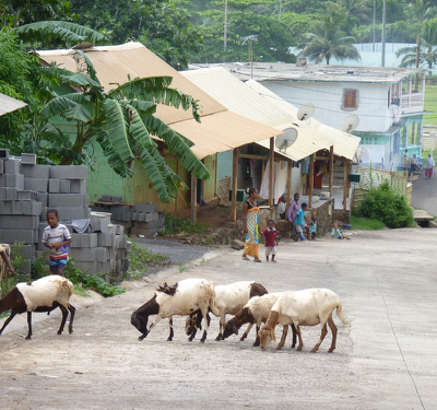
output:
[[[226,315],[235,315],[238,313],[245,304],[253,296],[262,296],[267,294],[267,289],[257,282],[240,281],[225,285],[215,286],[215,307],[220,312],[220,331],[215,340],[223,340],[222,330],[226,325]],[[198,312],[197,316],[202,315]],[[199,327],[199,317],[196,315],[187,318],[186,321],[186,333],[191,335],[189,340],[196,336],[196,328]],[[217,315],[216,315],[217,316]]]

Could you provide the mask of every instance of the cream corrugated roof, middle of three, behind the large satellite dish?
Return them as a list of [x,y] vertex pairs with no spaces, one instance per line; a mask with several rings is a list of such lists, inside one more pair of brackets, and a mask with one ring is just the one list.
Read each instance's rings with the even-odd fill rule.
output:
[[[181,73],[233,113],[281,131],[287,128],[297,129],[297,140],[285,153],[275,148],[277,153],[294,161],[299,161],[319,150],[329,150],[338,141],[334,137],[321,136],[310,129],[305,122],[297,119],[295,113],[285,112],[271,104],[259,91],[247,86],[223,68],[190,70]],[[262,85],[260,86],[265,89]],[[270,93],[268,90],[267,92]],[[270,140],[258,141],[257,143],[270,148]]]

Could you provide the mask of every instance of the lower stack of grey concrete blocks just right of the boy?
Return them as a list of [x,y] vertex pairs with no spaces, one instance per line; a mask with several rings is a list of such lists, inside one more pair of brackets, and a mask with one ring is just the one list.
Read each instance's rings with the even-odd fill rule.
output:
[[71,234],[74,265],[85,272],[104,272],[110,281],[122,280],[129,269],[131,245],[123,230],[110,223],[110,213],[91,212],[90,232]]

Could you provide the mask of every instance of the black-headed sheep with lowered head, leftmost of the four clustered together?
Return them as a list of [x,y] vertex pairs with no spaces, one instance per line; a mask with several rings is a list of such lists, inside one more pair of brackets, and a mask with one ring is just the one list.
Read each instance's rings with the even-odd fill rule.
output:
[[[214,306],[214,283],[205,279],[191,278],[181,280],[173,286],[164,283],[156,291],[150,301],[132,313],[131,324],[142,333],[139,340],[143,340],[161,319],[168,318],[170,332],[167,341],[172,341],[174,337],[173,316],[192,315],[200,311],[206,323],[200,340],[204,342],[210,328],[210,320],[206,318],[209,308],[214,315],[218,315],[218,311]],[[157,317],[147,329],[149,316],[151,315],[157,315]]]

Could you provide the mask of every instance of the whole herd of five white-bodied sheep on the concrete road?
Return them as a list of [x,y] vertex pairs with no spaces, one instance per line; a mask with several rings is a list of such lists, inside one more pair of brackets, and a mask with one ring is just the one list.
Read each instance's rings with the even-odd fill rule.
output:
[[[27,312],[28,332],[26,339],[32,337],[32,313],[51,312],[59,307],[62,312],[62,320],[58,335],[61,335],[70,312],[69,332],[73,331],[75,308],[70,304],[73,293],[73,284],[66,278],[52,274],[34,282],[16,284],[4,297],[0,300],[0,314],[11,311],[11,315],[0,329],[0,335],[16,314]],[[174,285],[164,283],[156,289],[153,297],[132,313],[131,324],[141,332],[139,340],[143,340],[151,329],[161,320],[168,318],[169,336],[173,340],[173,316],[188,316],[186,332],[191,341],[198,329],[204,330],[201,342],[206,339],[210,327],[210,313],[220,317],[220,332],[216,340],[225,339],[231,335],[238,335],[239,328],[249,324],[241,336],[244,340],[253,324],[257,336],[253,345],[265,349],[272,340],[275,340],[274,329],[277,324],[283,326],[283,332],[276,349],[281,349],[286,339],[288,326],[293,330],[293,344],[302,350],[304,343],[300,335],[300,326],[320,325],[321,335],[311,352],[317,352],[328,333],[327,326],[332,332],[332,343],[329,352],[333,352],[336,341],[336,326],[332,319],[332,313],[336,309],[336,316],[343,324],[346,319],[343,315],[342,303],[339,296],[328,289],[307,289],[297,292],[268,293],[265,288],[257,282],[240,281],[227,285],[214,285],[205,279],[190,278],[179,281]],[[226,323],[226,315],[235,315]],[[155,320],[147,327],[149,316],[156,315]],[[264,324],[261,327],[261,324]]]

